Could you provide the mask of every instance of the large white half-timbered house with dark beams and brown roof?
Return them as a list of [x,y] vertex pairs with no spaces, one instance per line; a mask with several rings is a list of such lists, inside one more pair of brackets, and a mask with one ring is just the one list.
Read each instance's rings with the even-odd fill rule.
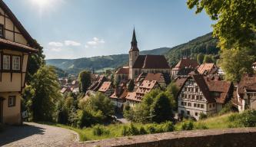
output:
[[231,82],[201,74],[180,78],[176,82],[181,88],[178,94],[178,113],[194,119],[199,119],[200,113],[221,111],[224,104],[231,100],[234,89]]

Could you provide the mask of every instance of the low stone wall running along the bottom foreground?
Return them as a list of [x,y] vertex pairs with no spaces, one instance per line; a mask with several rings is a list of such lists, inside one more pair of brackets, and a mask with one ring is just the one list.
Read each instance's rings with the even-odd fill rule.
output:
[[256,128],[207,129],[80,142],[86,147],[254,147]]

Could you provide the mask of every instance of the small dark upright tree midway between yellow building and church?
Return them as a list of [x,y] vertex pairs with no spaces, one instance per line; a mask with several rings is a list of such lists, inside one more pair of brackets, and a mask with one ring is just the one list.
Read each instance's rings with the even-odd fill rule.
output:
[[78,76],[79,90],[81,93],[86,93],[88,87],[91,85],[91,72],[83,70]]

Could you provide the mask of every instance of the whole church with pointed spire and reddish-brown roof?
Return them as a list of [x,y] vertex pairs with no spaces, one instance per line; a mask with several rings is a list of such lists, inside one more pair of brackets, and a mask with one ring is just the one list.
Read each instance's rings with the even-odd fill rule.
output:
[[140,55],[135,29],[131,39],[128,67],[121,67],[115,72],[115,79],[135,80],[141,73],[171,73],[171,68],[164,55]]

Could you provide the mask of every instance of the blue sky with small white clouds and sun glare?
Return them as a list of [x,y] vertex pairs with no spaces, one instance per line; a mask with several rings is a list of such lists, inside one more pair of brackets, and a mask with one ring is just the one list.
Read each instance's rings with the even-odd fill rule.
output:
[[140,51],[174,47],[212,31],[186,0],[4,0],[44,47],[46,59],[128,54],[135,27]]

